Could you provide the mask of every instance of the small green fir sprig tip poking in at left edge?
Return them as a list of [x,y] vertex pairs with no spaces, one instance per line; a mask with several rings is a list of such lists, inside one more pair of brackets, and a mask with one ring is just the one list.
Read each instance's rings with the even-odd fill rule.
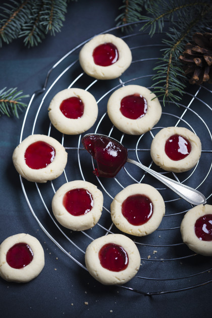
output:
[[27,104],[22,103],[21,100],[29,97],[29,95],[21,95],[23,92],[22,90],[17,92],[17,87],[9,88],[8,90],[6,88],[0,90],[0,117],[2,115],[7,115],[8,117],[13,115],[19,118],[18,111],[22,111],[27,107]]

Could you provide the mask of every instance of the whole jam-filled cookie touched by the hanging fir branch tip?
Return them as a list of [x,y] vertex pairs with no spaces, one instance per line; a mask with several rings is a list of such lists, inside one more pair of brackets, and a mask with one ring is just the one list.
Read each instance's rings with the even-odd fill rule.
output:
[[[126,98],[131,98],[129,104]],[[143,103],[138,105],[137,111],[135,98]],[[131,107],[132,104],[134,105]],[[124,115],[126,108],[130,117]],[[112,123],[122,132],[132,135],[149,131],[160,120],[161,114],[162,107],[156,96],[148,88],[139,85],[127,85],[115,90],[108,101],[108,115]]]

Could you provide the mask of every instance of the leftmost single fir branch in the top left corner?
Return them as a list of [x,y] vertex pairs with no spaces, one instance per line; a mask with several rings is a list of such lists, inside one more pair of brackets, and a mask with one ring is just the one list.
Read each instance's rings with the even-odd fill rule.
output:
[[2,42],[10,43],[18,37],[22,25],[26,22],[30,10],[30,0],[21,1],[18,3],[10,0],[11,4],[5,4],[5,7],[0,7],[0,47]]

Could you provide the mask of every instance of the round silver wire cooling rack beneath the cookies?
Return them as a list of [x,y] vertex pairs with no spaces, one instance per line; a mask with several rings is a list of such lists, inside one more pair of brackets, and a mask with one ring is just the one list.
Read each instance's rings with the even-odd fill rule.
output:
[[[141,22],[142,23],[142,22]],[[115,195],[133,183],[147,183],[162,194],[166,204],[166,215],[158,230],[138,238],[136,243],[141,266],[136,277],[122,288],[144,295],[158,295],[189,290],[212,282],[212,259],[193,253],[183,244],[180,224],[186,211],[192,206],[171,190],[164,188],[140,168],[126,163],[115,178],[98,178],[92,173],[95,162],[83,149],[82,135],[70,136],[59,133],[49,123],[47,108],[51,99],[62,89],[79,87],[89,90],[97,100],[99,115],[96,124],[86,133],[97,132],[120,140],[128,148],[129,158],[166,173],[202,192],[211,202],[211,153],[212,153],[212,109],[209,101],[212,92],[207,86],[191,86],[184,94],[179,106],[163,107],[160,121],[151,131],[136,137],[122,134],[114,127],[107,114],[107,101],[114,90],[123,85],[138,84],[151,89],[152,69],[161,57],[162,34],[149,39],[139,31],[141,23],[133,26],[133,32],[123,36],[121,27],[102,33],[113,33],[124,38],[133,56],[129,69],[118,79],[100,81],[87,76],[79,65],[79,51],[85,42],[67,53],[48,71],[43,88],[36,91],[29,103],[20,136],[20,142],[29,134],[42,133],[56,138],[68,152],[68,164],[64,173],[46,184],[34,184],[21,178],[21,186],[29,208],[46,235],[73,261],[85,270],[84,254],[92,240],[109,233],[120,233],[110,216],[110,204]],[[143,43],[148,43],[143,45]],[[157,131],[167,126],[184,126],[196,133],[202,142],[202,153],[197,165],[190,171],[175,174],[156,167],[150,157],[150,144]],[[63,228],[52,215],[51,200],[64,183],[83,179],[101,189],[104,196],[102,216],[93,229],[72,232]],[[89,275],[89,274],[88,274]]]

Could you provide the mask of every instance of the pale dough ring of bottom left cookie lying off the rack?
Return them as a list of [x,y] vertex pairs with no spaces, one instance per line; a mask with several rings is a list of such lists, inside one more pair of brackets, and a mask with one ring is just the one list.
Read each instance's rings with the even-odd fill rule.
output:
[[[7,262],[7,253],[15,244],[27,244],[33,253],[32,261],[22,267],[11,267]],[[0,276],[8,282],[26,283],[37,277],[44,266],[44,251],[40,242],[25,233],[8,237],[0,245]]]

